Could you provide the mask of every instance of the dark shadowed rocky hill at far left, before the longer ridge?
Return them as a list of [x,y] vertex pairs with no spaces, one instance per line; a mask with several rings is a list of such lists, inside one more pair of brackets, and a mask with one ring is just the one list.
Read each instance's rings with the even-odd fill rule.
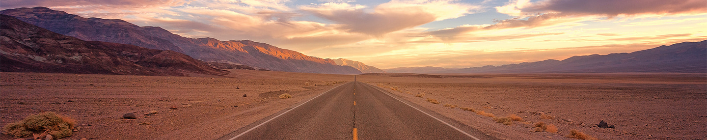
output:
[[228,74],[171,50],[84,41],[11,16],[1,15],[0,19],[0,71],[150,76]]

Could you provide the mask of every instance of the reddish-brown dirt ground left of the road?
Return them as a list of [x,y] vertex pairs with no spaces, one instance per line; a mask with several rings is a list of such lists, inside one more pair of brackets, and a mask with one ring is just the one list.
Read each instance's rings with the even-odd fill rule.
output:
[[[81,128],[64,139],[217,139],[354,78],[232,71],[229,77],[2,72],[0,125],[52,111],[78,120]],[[277,98],[283,93],[293,98]],[[144,115],[151,110],[158,113]],[[128,112],[138,118],[122,119]]]

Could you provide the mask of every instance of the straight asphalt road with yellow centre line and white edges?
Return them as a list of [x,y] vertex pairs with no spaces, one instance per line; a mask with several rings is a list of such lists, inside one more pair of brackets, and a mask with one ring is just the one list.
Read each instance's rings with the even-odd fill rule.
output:
[[397,98],[344,83],[221,139],[495,139]]

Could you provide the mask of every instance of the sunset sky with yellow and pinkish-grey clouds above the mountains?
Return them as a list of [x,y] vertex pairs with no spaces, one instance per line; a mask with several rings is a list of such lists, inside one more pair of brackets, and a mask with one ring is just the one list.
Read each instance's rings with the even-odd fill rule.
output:
[[4,0],[380,69],[467,68],[707,40],[705,0]]

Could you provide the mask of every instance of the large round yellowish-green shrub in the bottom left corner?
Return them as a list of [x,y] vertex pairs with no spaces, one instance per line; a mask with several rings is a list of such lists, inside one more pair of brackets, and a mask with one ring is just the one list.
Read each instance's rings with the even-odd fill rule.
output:
[[76,125],[76,120],[55,112],[43,112],[38,115],[30,115],[20,122],[12,122],[3,127],[3,134],[15,137],[30,136],[34,133],[51,134],[55,139],[71,136],[72,129]]

